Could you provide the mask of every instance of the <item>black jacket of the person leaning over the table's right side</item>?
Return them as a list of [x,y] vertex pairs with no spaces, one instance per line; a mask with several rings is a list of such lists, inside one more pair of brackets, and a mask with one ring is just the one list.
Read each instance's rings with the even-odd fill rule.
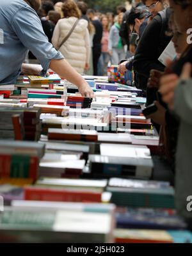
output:
[[165,68],[158,59],[171,40],[171,37],[166,35],[169,17],[170,9],[166,8],[152,19],[141,36],[134,56],[133,67],[137,77],[136,86],[147,91],[147,105],[156,100],[156,89],[147,88],[150,70],[164,71]]

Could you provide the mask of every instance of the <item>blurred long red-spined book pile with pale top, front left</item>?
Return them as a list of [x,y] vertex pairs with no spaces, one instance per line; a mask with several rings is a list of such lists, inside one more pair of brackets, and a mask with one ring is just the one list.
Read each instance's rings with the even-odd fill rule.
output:
[[110,201],[106,180],[42,179],[24,187],[24,199],[36,201],[101,203]]

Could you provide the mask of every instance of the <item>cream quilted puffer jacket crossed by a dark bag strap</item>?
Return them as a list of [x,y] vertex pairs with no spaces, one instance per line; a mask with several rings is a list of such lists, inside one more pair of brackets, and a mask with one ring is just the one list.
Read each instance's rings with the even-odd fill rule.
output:
[[[76,17],[68,17],[58,21],[52,35],[54,48],[59,48],[61,42],[67,36],[76,20]],[[58,50],[61,51],[65,59],[77,72],[83,73],[84,66],[86,63],[89,63],[90,59],[88,22],[84,19],[80,19],[70,37]]]

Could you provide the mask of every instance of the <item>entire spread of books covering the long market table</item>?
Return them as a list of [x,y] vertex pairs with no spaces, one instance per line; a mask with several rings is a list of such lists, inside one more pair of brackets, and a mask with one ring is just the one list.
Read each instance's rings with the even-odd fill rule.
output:
[[84,76],[94,99],[52,73],[0,88],[1,241],[191,242],[173,187],[150,180],[143,91],[108,75]]

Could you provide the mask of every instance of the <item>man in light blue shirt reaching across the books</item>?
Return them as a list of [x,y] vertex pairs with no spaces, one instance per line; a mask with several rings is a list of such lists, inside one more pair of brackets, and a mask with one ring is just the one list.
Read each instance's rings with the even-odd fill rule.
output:
[[34,9],[40,0],[1,0],[0,5],[0,86],[14,84],[22,70],[40,73],[32,65],[22,64],[30,50],[39,60],[44,73],[51,68],[61,77],[76,84],[79,92],[93,96],[92,89],[49,43]]

